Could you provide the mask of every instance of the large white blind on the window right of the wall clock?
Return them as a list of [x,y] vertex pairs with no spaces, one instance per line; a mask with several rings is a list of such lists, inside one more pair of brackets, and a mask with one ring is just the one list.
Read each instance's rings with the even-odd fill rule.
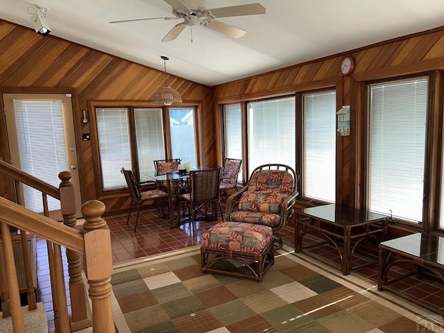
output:
[[371,85],[368,209],[422,221],[427,78]]

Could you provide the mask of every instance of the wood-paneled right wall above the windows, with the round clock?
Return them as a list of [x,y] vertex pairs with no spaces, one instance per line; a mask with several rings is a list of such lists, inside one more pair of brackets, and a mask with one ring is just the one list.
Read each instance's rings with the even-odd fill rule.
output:
[[[355,69],[348,77],[342,77],[339,71],[345,55],[355,58]],[[220,110],[223,103],[336,86],[340,97],[338,104],[351,105],[350,136],[336,139],[336,202],[360,207],[359,172],[362,172],[362,162],[358,117],[363,102],[359,95],[359,85],[370,80],[443,68],[444,27],[440,27],[218,85],[212,87],[212,98],[214,109]]]

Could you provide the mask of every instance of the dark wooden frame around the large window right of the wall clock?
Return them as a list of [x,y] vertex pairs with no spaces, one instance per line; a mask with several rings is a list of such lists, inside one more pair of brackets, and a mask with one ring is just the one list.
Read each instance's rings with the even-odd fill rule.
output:
[[[409,75],[392,75],[384,79],[367,78],[356,82],[361,101],[361,112],[359,112],[356,123],[359,124],[360,135],[357,136],[357,169],[360,169],[358,182],[356,184],[357,208],[367,209],[367,165],[368,165],[368,136],[366,128],[369,126],[369,100],[368,87],[370,85],[393,82],[397,80],[413,80],[415,78],[428,79],[427,88],[427,115],[426,115],[426,134],[425,134],[425,167],[424,167],[424,189],[422,200],[422,222],[412,223],[411,221],[396,219],[396,228],[407,229],[413,232],[444,232],[439,228],[439,204],[441,192],[444,195],[444,189],[441,189],[441,170],[443,168],[443,109],[444,109],[444,72],[439,70],[420,71]],[[361,147],[361,148],[358,148]],[[390,218],[390,216],[388,216]]]

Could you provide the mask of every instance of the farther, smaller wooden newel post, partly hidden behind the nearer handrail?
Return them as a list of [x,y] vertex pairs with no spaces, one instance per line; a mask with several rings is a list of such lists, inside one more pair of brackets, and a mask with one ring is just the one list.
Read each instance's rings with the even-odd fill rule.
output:
[[[62,210],[63,224],[70,228],[76,228],[76,197],[74,185],[71,182],[71,173],[62,171],[58,174],[62,180],[59,186],[60,207]],[[87,299],[85,285],[82,278],[82,264],[80,253],[67,249],[69,294],[71,295],[71,330],[73,332],[91,326],[91,318],[87,311]]]

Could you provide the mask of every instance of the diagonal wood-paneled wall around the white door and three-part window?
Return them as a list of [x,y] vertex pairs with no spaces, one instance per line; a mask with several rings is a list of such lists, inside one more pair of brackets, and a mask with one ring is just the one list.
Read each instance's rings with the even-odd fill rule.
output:
[[[169,76],[169,85],[183,101],[201,105],[200,160],[216,166],[214,118],[210,88]],[[93,123],[83,123],[82,110],[88,101],[149,101],[164,83],[162,71],[74,44],[52,35],[42,37],[33,30],[0,20],[0,92],[68,92],[73,94],[82,198],[97,199],[93,160],[96,140],[82,141],[92,133]],[[1,101],[3,103],[3,101]],[[3,108],[2,108],[3,109]],[[88,110],[92,112],[92,110]],[[4,117],[0,117],[0,158],[9,161]],[[0,174],[0,195],[13,198],[11,183]],[[128,197],[99,198],[110,212],[128,210]]]

